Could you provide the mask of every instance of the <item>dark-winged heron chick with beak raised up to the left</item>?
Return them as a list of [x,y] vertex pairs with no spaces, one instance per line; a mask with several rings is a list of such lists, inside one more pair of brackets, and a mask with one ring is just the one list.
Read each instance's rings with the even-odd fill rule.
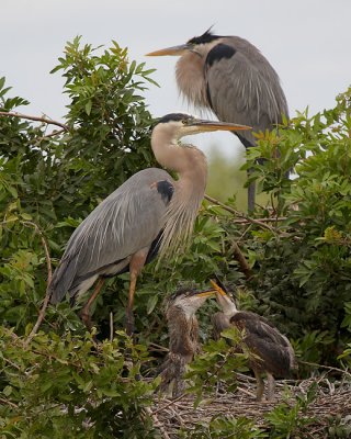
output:
[[258,314],[238,311],[234,301],[229,299],[223,288],[212,281],[216,290],[216,299],[222,307],[220,313],[213,316],[214,336],[219,338],[220,333],[231,326],[245,331],[244,342],[253,352],[254,359],[250,367],[257,381],[257,401],[261,401],[264,392],[264,382],[261,374],[267,373],[267,398],[274,397],[274,376],[286,378],[292,370],[297,369],[295,353],[288,339],[283,336],[264,317]]

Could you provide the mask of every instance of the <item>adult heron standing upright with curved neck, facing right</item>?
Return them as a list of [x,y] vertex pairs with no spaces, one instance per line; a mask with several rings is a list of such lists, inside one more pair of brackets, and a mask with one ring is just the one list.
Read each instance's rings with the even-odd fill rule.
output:
[[91,326],[90,306],[104,279],[129,271],[131,285],[126,309],[126,329],[133,331],[133,302],[136,280],[145,263],[177,249],[189,239],[206,185],[204,154],[191,145],[178,144],[190,134],[226,130],[248,130],[230,123],[199,120],[186,114],[168,114],[159,120],[151,134],[157,161],[178,173],[144,169],[111,193],[77,227],[55,270],[49,294],[53,304],[68,293],[76,297],[99,279],[81,312]]

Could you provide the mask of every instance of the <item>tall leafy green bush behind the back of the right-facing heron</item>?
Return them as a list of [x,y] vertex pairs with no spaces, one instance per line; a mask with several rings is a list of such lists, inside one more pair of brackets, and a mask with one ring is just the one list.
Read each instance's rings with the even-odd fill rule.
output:
[[[35,320],[46,290],[36,227],[52,257],[59,259],[73,227],[132,173],[155,164],[152,121],[139,95],[146,81],[154,82],[151,70],[129,64],[126,49],[116,43],[102,50],[81,47],[79,37],[67,44],[57,70],[64,70],[64,91],[71,99],[68,132],[47,134],[45,124],[0,119],[0,318],[18,334]],[[2,79],[2,111],[27,104],[8,98],[9,90]],[[72,317],[68,306],[59,311]]]

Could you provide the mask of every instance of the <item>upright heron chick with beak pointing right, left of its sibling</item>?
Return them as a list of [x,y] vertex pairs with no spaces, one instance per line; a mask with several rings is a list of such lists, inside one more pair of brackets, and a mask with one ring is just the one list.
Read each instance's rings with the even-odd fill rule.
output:
[[169,331],[169,353],[160,368],[160,391],[172,385],[172,397],[183,393],[183,373],[199,351],[199,324],[196,311],[214,290],[196,291],[182,288],[167,302],[166,318]]

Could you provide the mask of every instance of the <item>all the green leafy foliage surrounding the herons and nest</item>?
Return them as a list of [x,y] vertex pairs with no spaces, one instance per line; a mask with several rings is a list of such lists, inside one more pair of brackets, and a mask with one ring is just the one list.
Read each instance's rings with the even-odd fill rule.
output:
[[[335,109],[298,113],[279,135],[259,136],[244,167],[253,170],[251,180],[263,195],[251,218],[234,214],[239,196],[225,209],[204,202],[190,249],[144,269],[135,304],[139,345],[118,333],[113,342],[95,347],[77,316],[79,304],[71,308],[64,302],[48,307],[43,333],[26,346],[47,286],[46,250],[55,268],[69,236],[98,203],[132,173],[156,166],[149,147],[152,117],[143,98],[152,70],[131,63],[115,42],[93,48],[77,37],[67,43],[57,71],[70,99],[67,130],[0,117],[1,434],[109,438],[124,437],[123,430],[131,438],[157,437],[144,412],[154,384],[137,375],[155,374],[161,359],[149,359],[146,346],[167,345],[165,296],[179,282],[207,286],[214,273],[236,288],[240,307],[269,316],[302,360],[350,367],[351,89],[337,98]],[[10,92],[0,78],[1,111],[29,103]],[[113,329],[111,315],[114,328],[124,326],[127,291],[127,273],[110,279],[94,304],[101,340]],[[218,380],[234,391],[234,371],[247,370],[247,351],[238,353],[224,339],[208,341],[214,311],[214,301],[207,301],[199,313],[207,342],[188,375],[196,404]],[[240,341],[238,334],[226,337]],[[299,369],[302,375],[308,372]],[[268,415],[272,437],[308,428],[309,420],[297,416],[308,403],[297,398],[295,406],[283,404]],[[330,435],[338,428],[331,420]],[[230,417],[190,434],[267,437],[251,420]]]

